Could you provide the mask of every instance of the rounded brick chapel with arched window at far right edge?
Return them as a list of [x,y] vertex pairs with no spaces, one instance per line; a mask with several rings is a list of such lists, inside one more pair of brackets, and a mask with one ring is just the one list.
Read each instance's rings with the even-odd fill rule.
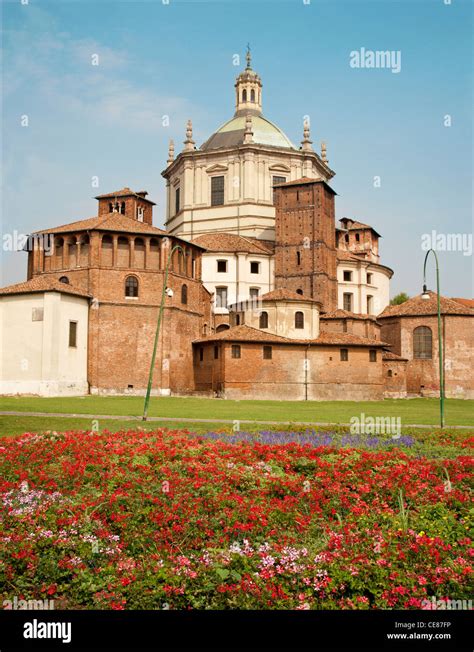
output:
[[[381,337],[393,353],[406,359],[408,396],[439,394],[437,295],[418,295],[398,306],[388,306],[378,321]],[[474,398],[474,309],[440,297],[445,395]],[[393,381],[392,381],[393,382]]]

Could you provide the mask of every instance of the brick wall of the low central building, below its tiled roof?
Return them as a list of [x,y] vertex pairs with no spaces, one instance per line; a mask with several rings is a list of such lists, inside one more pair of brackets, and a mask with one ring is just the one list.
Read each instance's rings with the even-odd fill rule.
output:
[[[237,343],[236,343],[237,344]],[[349,348],[340,360],[339,346],[272,345],[272,359],[263,358],[263,344],[239,343],[241,358],[232,358],[231,342],[195,345],[194,377],[200,392],[220,391],[226,398],[273,400],[375,400],[383,398],[382,354],[369,362],[369,349]],[[219,357],[214,358],[214,347]],[[200,361],[199,350],[203,351]],[[306,361],[306,362],[305,362]]]

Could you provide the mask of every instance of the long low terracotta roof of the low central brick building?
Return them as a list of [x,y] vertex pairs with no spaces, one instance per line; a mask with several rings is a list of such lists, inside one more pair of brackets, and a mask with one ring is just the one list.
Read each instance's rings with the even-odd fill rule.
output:
[[234,326],[233,328],[228,328],[220,333],[203,337],[199,340],[195,340],[194,344],[204,344],[206,342],[272,342],[274,344],[305,344],[311,346],[333,344],[336,346],[354,345],[379,348],[389,346],[380,340],[371,340],[366,337],[360,337],[359,335],[352,335],[351,333],[320,333],[317,339],[300,340],[292,339],[290,337],[282,337],[281,335],[275,335],[274,333],[269,333],[246,325]]

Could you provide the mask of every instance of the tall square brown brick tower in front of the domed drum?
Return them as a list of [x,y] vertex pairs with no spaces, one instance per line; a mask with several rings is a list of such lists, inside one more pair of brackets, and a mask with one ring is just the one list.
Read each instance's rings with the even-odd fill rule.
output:
[[325,181],[302,178],[275,186],[275,288],[337,309],[334,195]]

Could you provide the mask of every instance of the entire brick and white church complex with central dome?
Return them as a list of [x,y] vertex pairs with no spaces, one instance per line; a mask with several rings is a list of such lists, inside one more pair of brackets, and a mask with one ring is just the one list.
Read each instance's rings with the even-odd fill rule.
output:
[[[144,190],[31,234],[27,280],[0,288],[0,394],[371,400],[439,391],[433,301],[389,306],[379,233],[336,223],[310,125],[295,147],[247,66],[233,117],[170,143],[165,229]],[[443,298],[446,394],[473,396],[474,309]],[[433,305],[432,305],[433,304]],[[471,335],[469,335],[469,332]]]

